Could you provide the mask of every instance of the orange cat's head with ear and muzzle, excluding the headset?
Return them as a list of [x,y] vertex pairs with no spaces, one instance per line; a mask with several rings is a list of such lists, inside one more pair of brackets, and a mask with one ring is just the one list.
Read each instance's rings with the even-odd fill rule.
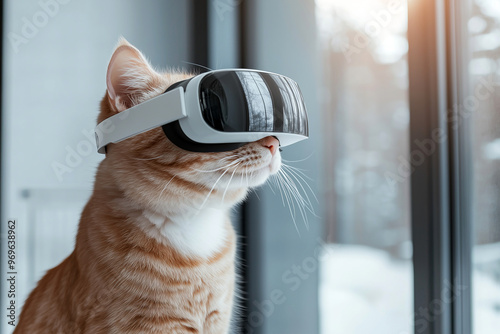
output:
[[[122,39],[108,66],[98,123],[192,76],[155,71],[139,50]],[[108,145],[105,163],[127,196],[158,211],[166,202],[182,210],[227,207],[241,201],[249,187],[263,184],[279,171],[278,147],[278,140],[270,136],[232,151],[190,152],[171,143],[158,127]]]

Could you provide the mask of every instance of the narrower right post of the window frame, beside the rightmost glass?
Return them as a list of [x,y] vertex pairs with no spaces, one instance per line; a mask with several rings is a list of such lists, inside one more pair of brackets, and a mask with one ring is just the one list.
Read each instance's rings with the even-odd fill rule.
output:
[[451,270],[454,282],[453,333],[472,333],[471,117],[462,117],[468,82],[468,1],[447,0],[448,131],[450,165]]

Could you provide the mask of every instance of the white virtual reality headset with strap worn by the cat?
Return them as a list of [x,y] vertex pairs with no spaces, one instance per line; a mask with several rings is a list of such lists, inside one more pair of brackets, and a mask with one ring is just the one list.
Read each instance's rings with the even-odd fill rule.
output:
[[217,70],[174,83],[99,123],[97,151],[160,126],[172,143],[194,152],[230,151],[267,136],[284,147],[309,136],[295,81],[264,71]]

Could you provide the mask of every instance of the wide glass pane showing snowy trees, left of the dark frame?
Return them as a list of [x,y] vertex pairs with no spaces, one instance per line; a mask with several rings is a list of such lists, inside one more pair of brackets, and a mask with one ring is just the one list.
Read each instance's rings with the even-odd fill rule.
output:
[[404,1],[316,0],[327,240],[321,333],[413,333]]

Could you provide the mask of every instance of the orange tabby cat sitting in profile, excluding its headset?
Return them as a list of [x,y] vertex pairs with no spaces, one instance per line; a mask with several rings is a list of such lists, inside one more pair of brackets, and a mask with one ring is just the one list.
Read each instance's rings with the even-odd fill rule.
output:
[[[189,77],[155,72],[121,40],[98,122]],[[108,145],[75,250],[40,280],[14,333],[227,333],[236,241],[228,211],[278,172],[278,145],[267,137],[188,152],[161,128]]]

